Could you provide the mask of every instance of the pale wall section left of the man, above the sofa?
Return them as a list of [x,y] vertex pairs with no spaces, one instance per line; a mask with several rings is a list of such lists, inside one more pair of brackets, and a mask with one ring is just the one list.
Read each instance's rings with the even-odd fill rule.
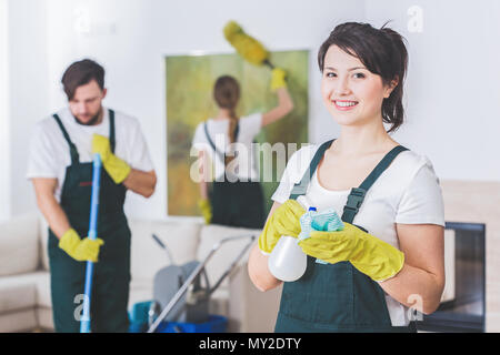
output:
[[26,180],[31,129],[50,110],[48,102],[44,0],[9,1],[9,197],[10,214],[37,211]]

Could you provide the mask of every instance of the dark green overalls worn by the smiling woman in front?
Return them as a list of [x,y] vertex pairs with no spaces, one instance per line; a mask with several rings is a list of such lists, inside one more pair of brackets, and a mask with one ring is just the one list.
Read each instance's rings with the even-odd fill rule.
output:
[[[333,140],[323,143],[313,156],[309,170],[293,186],[290,199],[306,194],[324,151]],[[351,190],[342,221],[352,223],[364,195],[392,160],[406,148],[392,149],[362,182]],[[304,275],[296,282],[286,282],[274,332],[414,332],[414,325],[391,325],[384,292],[369,276],[349,262],[319,264],[308,255]]]

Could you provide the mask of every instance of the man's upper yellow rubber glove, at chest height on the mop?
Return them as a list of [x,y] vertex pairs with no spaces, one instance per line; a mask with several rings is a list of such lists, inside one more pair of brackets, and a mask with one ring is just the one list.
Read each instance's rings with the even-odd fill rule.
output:
[[102,165],[116,184],[122,183],[132,170],[129,164],[111,152],[109,139],[103,135],[93,134],[92,153],[101,155]]

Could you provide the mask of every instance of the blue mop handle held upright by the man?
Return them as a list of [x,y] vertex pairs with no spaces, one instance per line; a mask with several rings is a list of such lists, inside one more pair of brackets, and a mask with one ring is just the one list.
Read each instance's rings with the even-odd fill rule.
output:
[[[101,183],[101,156],[96,154],[93,156],[92,171],[92,196],[90,200],[90,223],[89,223],[89,239],[97,239],[97,222],[99,213],[99,187]],[[83,297],[83,315],[80,323],[80,333],[90,333],[90,295],[92,293],[92,275],[93,263],[87,262],[86,271],[86,290]]]

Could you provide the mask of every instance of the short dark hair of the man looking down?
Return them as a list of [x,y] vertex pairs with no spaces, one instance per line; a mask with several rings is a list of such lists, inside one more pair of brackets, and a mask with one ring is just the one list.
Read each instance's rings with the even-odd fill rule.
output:
[[68,67],[62,74],[62,87],[68,100],[72,100],[78,87],[96,80],[101,90],[104,89],[104,69],[90,59],[83,59]]

